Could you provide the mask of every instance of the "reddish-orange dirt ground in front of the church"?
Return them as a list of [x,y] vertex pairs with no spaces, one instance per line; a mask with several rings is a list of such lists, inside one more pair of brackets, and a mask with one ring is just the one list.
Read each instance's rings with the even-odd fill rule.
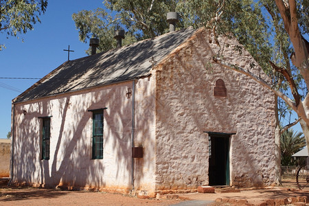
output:
[[[216,198],[246,198],[249,203],[260,203],[265,199],[309,196],[309,186],[296,190],[295,181],[284,181],[283,187],[263,190],[241,190],[240,192],[214,194],[178,194],[187,201],[215,201]],[[62,191],[38,189],[33,187],[7,187],[0,185],[0,205],[174,205],[185,203],[184,200],[139,199],[122,194],[87,191]],[[190,202],[187,202],[190,203]]]

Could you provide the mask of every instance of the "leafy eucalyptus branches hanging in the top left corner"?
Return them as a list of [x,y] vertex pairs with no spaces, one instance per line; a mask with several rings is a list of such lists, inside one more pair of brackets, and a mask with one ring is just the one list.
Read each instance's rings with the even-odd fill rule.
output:
[[[33,30],[34,24],[41,23],[39,16],[46,8],[47,0],[0,0],[0,33],[8,37]],[[0,44],[0,51],[3,48],[5,46]]]

